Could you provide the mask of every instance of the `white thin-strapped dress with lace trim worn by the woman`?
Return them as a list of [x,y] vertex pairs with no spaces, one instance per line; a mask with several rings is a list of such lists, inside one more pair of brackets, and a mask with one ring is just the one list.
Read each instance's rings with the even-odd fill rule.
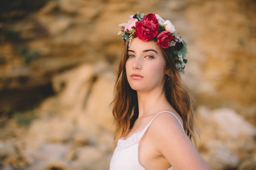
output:
[[[118,140],[116,149],[113,153],[111,162],[110,162],[110,170],[145,170],[145,168],[140,164],[139,162],[139,156],[138,156],[138,148],[139,148],[139,142],[142,136],[144,135],[145,131],[148,129],[151,122],[154,120],[154,118],[160,114],[160,113],[171,113],[173,116],[177,118],[177,116],[169,111],[161,111],[157,113],[153,119],[144,127],[143,130],[134,133],[128,139],[124,139],[122,137]],[[180,120],[177,118],[177,120],[180,122]],[[183,125],[180,122],[181,127],[183,128]],[[184,130],[184,129],[183,129]],[[173,167],[170,167],[168,170],[174,170]]]

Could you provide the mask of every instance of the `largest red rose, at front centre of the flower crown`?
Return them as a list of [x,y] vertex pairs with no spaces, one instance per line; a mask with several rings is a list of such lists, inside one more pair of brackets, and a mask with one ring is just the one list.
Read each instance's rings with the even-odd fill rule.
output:
[[136,23],[136,36],[143,41],[152,40],[157,36],[159,27],[150,21],[143,20]]

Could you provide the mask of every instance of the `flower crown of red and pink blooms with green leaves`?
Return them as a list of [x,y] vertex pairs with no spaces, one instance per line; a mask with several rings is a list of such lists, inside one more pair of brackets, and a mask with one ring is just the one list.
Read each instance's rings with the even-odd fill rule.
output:
[[161,48],[170,48],[172,59],[175,61],[175,67],[183,74],[187,63],[185,59],[187,54],[186,42],[180,36],[175,35],[175,26],[169,20],[163,20],[158,14],[143,13],[131,15],[127,23],[119,24],[123,40],[127,42],[128,47],[131,45],[133,38],[138,37],[140,40],[156,41]]

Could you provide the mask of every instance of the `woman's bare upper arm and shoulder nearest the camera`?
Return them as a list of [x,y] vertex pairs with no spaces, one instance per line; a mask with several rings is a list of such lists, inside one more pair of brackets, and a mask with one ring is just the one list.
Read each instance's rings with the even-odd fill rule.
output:
[[149,138],[175,170],[210,170],[175,116],[162,113],[149,128]]

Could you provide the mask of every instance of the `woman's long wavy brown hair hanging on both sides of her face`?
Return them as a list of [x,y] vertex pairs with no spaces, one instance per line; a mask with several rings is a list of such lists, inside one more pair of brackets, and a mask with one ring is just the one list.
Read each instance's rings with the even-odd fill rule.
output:
[[[113,116],[116,124],[115,143],[133,127],[139,115],[137,91],[134,91],[127,80],[125,63],[127,59],[127,43],[124,45],[119,61],[118,74],[114,88]],[[161,48],[162,49],[162,48]],[[164,89],[168,102],[183,120],[184,130],[192,142],[196,143],[194,135],[194,99],[188,88],[183,85],[180,72],[175,68],[172,50],[162,49],[165,57]]]

